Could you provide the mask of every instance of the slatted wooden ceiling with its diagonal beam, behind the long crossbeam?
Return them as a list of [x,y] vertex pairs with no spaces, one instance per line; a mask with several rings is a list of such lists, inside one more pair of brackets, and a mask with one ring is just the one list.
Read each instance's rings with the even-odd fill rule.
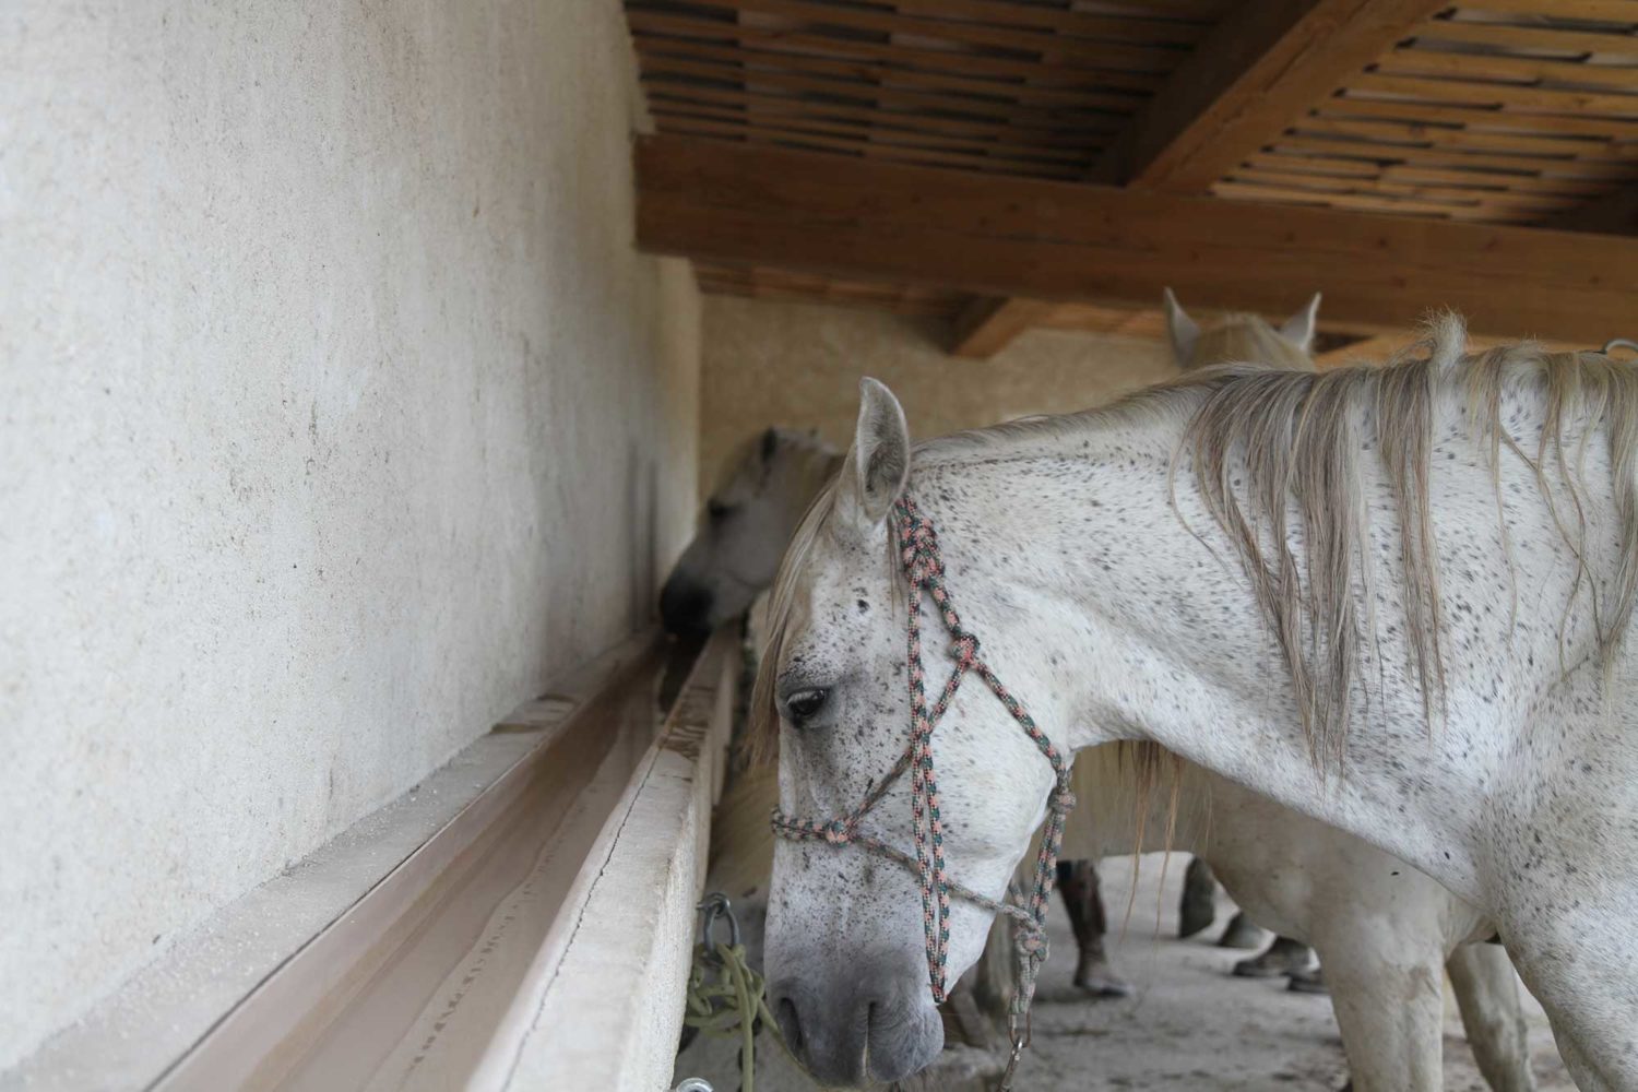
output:
[[[1638,185],[1638,0],[624,7],[652,115],[670,136],[942,167],[984,185],[1106,182],[1346,211],[1351,223],[1397,216],[1384,231],[1407,246],[1412,234],[1397,232],[1428,221],[1638,232],[1627,196]],[[927,175],[937,187],[953,177]],[[1333,287],[1351,255],[1286,250],[1312,264],[1276,277],[1281,300],[1269,308],[1324,288],[1330,332],[1374,332],[1371,321],[1340,321],[1386,308],[1340,309]],[[1040,300],[1053,291],[973,301],[957,287],[973,283],[965,277],[917,282],[845,262],[824,272],[773,249],[750,254],[753,264],[701,267],[701,285],[945,314],[970,355],[1029,326],[1138,329],[1152,318],[1132,316],[1155,305],[1096,283],[1076,287],[1076,303]],[[1243,291],[1209,285],[1189,301],[1235,306]],[[1425,295],[1402,288],[1396,301],[1420,308]],[[1466,309],[1481,314],[1484,303]]]

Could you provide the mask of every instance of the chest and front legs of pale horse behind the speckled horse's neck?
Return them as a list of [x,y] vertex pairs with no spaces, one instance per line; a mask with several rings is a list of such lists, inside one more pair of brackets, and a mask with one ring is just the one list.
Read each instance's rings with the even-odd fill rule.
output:
[[1253,918],[1312,945],[1355,1092],[1445,1087],[1441,966],[1486,1082],[1535,1089],[1518,979],[1499,945],[1473,943],[1495,932],[1477,910],[1360,838],[1192,763],[1171,776],[1165,791],[1135,794],[1119,745],[1084,750],[1066,850],[1197,853]]

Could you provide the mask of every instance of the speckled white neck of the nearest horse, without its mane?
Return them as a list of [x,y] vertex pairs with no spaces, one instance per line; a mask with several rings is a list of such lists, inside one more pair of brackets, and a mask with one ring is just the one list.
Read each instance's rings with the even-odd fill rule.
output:
[[[1507,534],[1530,544],[1512,552],[1515,586],[1535,589],[1533,601],[1543,604],[1569,601],[1576,570],[1559,545],[1564,532],[1546,506],[1518,499],[1545,486],[1517,460],[1504,462],[1497,483],[1482,457],[1458,458],[1474,439],[1451,411],[1459,391],[1438,398],[1427,457],[1432,463],[1440,452],[1432,511],[1495,511],[1492,498],[1512,498]],[[1541,419],[1540,403],[1528,386],[1502,398],[1500,413],[1512,419],[1517,411],[1532,450],[1528,422]],[[1137,404],[1112,417],[998,429],[924,452],[911,488],[939,527],[950,594],[986,660],[1025,701],[1047,707],[1037,719],[1053,725],[1048,732],[1060,745],[1156,742],[1378,843],[1469,900],[1481,899],[1471,848],[1482,832],[1461,822],[1477,819],[1473,801],[1509,769],[1509,748],[1528,730],[1533,702],[1563,678],[1561,665],[1589,661],[1590,612],[1566,614],[1563,634],[1556,625],[1515,630],[1499,514],[1495,524],[1446,522],[1443,552],[1461,565],[1445,568],[1441,594],[1469,607],[1464,639],[1446,645],[1455,697],[1432,725],[1423,691],[1405,666],[1402,617],[1384,617],[1369,640],[1373,679],[1356,676],[1371,686],[1369,701],[1348,691],[1355,743],[1345,774],[1335,758],[1320,755],[1330,763],[1319,766],[1322,776],[1291,675],[1233,544],[1206,511],[1191,475],[1178,476],[1174,508],[1168,503],[1171,453],[1186,421],[1173,406]],[[1571,432],[1566,440],[1571,450],[1576,439]],[[1599,460],[1607,457],[1599,444],[1589,450],[1592,473],[1604,481],[1609,468]],[[1382,458],[1368,457],[1361,476],[1373,526],[1397,530]],[[1607,483],[1594,499],[1599,512],[1613,511]],[[1561,496],[1559,506],[1568,504]],[[1618,558],[1604,555],[1625,542],[1607,522],[1609,516],[1589,519],[1595,573],[1615,571]],[[1292,537],[1301,568],[1304,535]],[[1394,571],[1392,539],[1368,535],[1360,545],[1373,566]],[[1382,602],[1389,612],[1402,611],[1392,591]],[[1396,810],[1396,802],[1404,807]]]

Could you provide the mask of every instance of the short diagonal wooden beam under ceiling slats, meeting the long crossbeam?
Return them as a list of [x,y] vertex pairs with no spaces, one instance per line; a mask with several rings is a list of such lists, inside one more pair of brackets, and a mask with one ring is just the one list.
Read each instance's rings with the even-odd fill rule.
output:
[[1194,47],[1094,182],[1204,193],[1446,0],[1256,0]]

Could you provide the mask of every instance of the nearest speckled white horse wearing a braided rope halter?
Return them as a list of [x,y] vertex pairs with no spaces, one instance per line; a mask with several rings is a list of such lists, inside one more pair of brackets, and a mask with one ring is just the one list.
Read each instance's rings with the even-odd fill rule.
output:
[[[1461,359],[1463,341],[1446,323],[1387,368],[1206,372],[914,452],[893,395],[863,385],[775,584],[755,702],[778,725],[783,810],[811,820],[786,830],[816,832],[775,850],[768,971],[821,1077],[925,1064],[929,977],[971,966],[994,912],[945,905],[943,863],[999,899],[1061,807],[1050,745],[980,683],[930,743],[914,729],[914,781],[885,787],[921,678],[893,540],[924,516],[962,632],[1057,747],[1161,743],[1415,864],[1499,927],[1576,1081],[1638,1087],[1638,725],[1620,696],[1638,373],[1530,345]],[[939,694],[952,642],[945,611],[922,614]],[[912,843],[925,887],[898,863]],[[1394,871],[1373,879],[1422,882]]]

